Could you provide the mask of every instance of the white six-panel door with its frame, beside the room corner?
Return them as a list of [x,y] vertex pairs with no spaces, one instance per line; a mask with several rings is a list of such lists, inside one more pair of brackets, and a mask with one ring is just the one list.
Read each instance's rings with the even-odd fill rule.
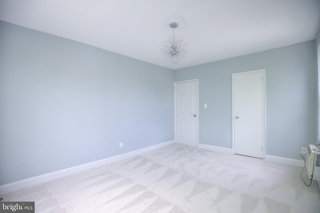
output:
[[174,83],[175,142],[198,144],[198,84],[197,80]]

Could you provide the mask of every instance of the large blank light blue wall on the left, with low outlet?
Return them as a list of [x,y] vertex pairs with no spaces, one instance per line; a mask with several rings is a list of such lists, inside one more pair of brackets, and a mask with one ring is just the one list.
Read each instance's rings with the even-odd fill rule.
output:
[[0,185],[173,140],[173,105],[170,69],[0,21]]

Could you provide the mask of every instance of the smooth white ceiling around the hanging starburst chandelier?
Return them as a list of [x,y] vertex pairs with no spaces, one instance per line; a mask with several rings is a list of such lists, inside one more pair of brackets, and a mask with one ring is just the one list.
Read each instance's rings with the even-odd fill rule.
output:
[[320,0],[0,0],[0,20],[160,66],[175,21],[177,69],[312,40]]

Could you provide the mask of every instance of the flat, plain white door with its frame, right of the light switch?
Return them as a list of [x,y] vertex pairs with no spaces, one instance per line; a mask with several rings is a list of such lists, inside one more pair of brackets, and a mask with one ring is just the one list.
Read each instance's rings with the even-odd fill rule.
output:
[[232,74],[232,152],[264,157],[264,69]]

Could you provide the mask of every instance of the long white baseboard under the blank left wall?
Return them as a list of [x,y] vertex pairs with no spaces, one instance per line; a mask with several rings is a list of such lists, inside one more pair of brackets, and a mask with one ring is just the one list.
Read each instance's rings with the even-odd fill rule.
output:
[[53,180],[56,180],[56,179],[59,179],[59,178],[63,178],[63,177],[69,176],[69,175],[73,175],[73,174],[78,173],[78,172],[82,172],[82,171],[85,171],[85,170],[88,170],[88,169],[91,169],[91,168],[94,168],[94,167],[98,167],[98,166],[101,166],[101,165],[104,165],[104,164],[108,164],[108,163],[112,163],[112,162],[115,162],[115,161],[119,161],[119,160],[122,160],[122,159],[125,159],[125,158],[130,158],[130,157],[139,155],[141,153],[145,153],[145,152],[152,151],[152,150],[155,150],[155,149],[158,149],[158,148],[161,148],[161,147],[168,146],[170,144],[174,144],[174,140],[167,141],[167,142],[160,143],[160,144],[156,144],[156,145],[153,145],[153,146],[150,146],[150,147],[146,147],[146,148],[143,148],[143,149],[139,149],[139,150],[136,150],[136,151],[128,152],[128,153],[125,153],[125,154],[122,154],[122,155],[116,155],[116,156],[113,156],[113,157],[110,157],[110,158],[105,158],[105,159],[102,159],[102,160],[93,161],[93,162],[90,162],[90,163],[81,164],[81,165],[70,167],[70,168],[67,168],[67,169],[58,170],[58,171],[55,171],[55,172],[51,172],[51,173],[35,176],[35,177],[24,179],[24,180],[21,180],[21,181],[16,181],[16,182],[12,182],[12,183],[9,183],[9,184],[5,184],[5,185],[0,186],[0,195],[3,195],[5,193],[9,193],[9,192],[14,192],[14,191],[17,191],[17,190],[20,190],[20,189],[24,189],[24,188],[27,188],[27,187],[32,187],[32,186],[35,186],[35,185],[38,185],[38,184],[43,184],[43,183],[46,183],[46,182],[49,182],[49,181],[53,181]]

